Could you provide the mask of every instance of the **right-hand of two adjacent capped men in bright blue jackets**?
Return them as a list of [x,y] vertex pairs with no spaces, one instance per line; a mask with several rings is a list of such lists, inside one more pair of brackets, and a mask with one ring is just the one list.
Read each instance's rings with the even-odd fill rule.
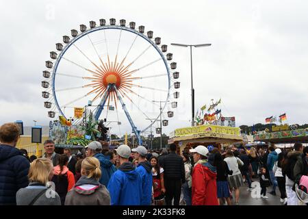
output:
[[151,205],[152,200],[152,166],[151,163],[146,161],[146,148],[144,146],[138,146],[136,149],[132,149],[135,159],[138,160],[137,172],[139,172],[142,179],[142,201],[141,205]]

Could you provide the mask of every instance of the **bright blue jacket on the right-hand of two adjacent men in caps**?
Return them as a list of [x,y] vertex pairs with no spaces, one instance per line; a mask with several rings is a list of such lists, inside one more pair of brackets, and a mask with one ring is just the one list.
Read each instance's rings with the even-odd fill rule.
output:
[[139,172],[142,179],[142,201],[141,205],[151,205],[152,198],[152,166],[150,162],[140,162],[137,167],[137,172]]

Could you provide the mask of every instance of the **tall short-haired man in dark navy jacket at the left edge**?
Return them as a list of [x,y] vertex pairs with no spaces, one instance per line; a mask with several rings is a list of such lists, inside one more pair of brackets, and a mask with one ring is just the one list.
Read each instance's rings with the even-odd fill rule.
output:
[[16,192],[29,185],[30,163],[15,148],[19,128],[15,123],[0,127],[0,205],[16,205]]

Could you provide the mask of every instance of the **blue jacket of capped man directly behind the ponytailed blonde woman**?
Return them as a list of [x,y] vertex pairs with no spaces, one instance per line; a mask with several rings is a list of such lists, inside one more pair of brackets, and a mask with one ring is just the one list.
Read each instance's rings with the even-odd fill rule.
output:
[[101,179],[99,179],[99,183],[107,187],[110,177],[116,172],[116,167],[110,162],[110,159],[106,159],[102,153],[97,153],[93,157],[97,158],[101,164]]

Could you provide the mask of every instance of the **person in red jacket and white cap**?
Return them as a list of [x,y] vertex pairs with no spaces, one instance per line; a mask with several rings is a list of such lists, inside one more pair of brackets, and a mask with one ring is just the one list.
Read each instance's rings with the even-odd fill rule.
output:
[[207,162],[209,150],[205,146],[199,145],[195,149],[191,149],[190,152],[193,153],[196,163],[192,170],[192,205],[219,205],[216,167]]

